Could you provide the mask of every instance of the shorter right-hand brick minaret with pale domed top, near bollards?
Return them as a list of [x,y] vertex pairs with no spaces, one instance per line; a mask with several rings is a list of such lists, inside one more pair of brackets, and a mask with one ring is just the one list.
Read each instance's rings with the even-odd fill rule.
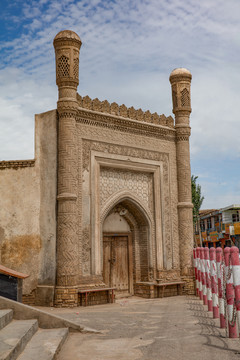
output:
[[175,114],[177,179],[178,179],[178,221],[181,275],[192,275],[193,218],[191,194],[191,168],[189,152],[189,136],[191,128],[191,79],[187,69],[172,71],[173,113]]

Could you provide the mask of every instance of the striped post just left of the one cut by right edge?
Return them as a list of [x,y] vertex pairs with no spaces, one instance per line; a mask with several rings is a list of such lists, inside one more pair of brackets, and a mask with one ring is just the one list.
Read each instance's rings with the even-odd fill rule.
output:
[[224,260],[225,260],[225,277],[226,277],[226,298],[227,298],[227,311],[228,311],[228,332],[230,338],[237,338],[237,324],[234,321],[234,286],[233,276],[231,273],[230,264],[230,248],[224,249]]

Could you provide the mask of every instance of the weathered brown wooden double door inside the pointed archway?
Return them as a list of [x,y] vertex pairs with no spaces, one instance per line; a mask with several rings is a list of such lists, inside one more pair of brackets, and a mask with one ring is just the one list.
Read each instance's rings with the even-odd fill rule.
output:
[[120,293],[132,293],[131,238],[103,236],[103,280]]

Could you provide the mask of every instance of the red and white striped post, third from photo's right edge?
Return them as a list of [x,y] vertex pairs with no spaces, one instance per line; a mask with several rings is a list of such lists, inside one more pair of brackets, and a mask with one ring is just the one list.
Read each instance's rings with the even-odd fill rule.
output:
[[223,250],[222,248],[216,249],[216,260],[217,260],[217,278],[218,278],[218,301],[219,301],[219,313],[220,313],[220,328],[225,329],[226,318],[225,318],[225,307],[223,298]]

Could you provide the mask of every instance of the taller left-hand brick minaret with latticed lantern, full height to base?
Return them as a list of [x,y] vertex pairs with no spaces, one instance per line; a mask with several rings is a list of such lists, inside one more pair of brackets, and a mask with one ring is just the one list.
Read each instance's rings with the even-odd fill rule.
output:
[[58,216],[55,303],[77,305],[77,86],[81,40],[69,30],[54,39],[58,85]]

